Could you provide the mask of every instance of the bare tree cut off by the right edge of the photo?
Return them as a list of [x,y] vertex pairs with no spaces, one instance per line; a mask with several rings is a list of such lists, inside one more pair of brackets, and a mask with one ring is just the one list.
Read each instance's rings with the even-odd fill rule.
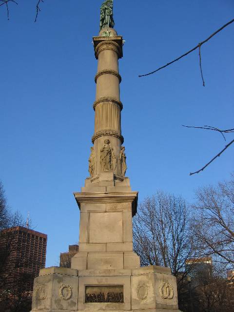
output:
[[234,267],[234,175],[198,189],[196,198],[194,236],[200,253]]

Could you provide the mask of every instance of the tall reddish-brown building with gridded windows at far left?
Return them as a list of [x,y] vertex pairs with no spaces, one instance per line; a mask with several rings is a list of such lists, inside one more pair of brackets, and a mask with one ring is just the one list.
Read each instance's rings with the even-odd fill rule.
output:
[[33,290],[34,278],[45,267],[46,244],[46,234],[28,228],[18,226],[1,231],[0,287],[7,290],[23,285],[25,291]]

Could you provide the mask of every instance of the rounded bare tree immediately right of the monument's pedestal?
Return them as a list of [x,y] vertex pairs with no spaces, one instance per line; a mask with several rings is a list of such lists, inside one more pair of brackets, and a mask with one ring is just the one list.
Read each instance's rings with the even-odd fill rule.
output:
[[139,205],[133,220],[134,250],[141,265],[171,268],[177,278],[179,304],[191,269],[186,260],[195,258],[190,233],[190,212],[185,200],[161,191]]

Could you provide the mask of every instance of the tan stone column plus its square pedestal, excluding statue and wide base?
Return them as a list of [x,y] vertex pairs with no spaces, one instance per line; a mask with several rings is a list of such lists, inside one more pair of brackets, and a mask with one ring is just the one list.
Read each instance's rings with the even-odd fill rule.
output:
[[123,39],[108,28],[102,29],[93,40],[98,71],[94,148],[89,161],[94,174],[85,180],[81,193],[74,193],[80,209],[80,225],[79,252],[72,258],[72,268],[137,268],[140,262],[133,253],[132,216],[137,212],[138,193],[131,190],[129,179],[120,172],[119,161],[123,137],[118,59],[122,57]]

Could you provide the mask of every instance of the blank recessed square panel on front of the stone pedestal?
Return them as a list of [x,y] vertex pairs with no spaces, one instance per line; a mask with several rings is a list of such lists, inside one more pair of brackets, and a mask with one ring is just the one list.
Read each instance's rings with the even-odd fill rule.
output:
[[121,243],[122,241],[122,212],[90,212],[89,243]]

